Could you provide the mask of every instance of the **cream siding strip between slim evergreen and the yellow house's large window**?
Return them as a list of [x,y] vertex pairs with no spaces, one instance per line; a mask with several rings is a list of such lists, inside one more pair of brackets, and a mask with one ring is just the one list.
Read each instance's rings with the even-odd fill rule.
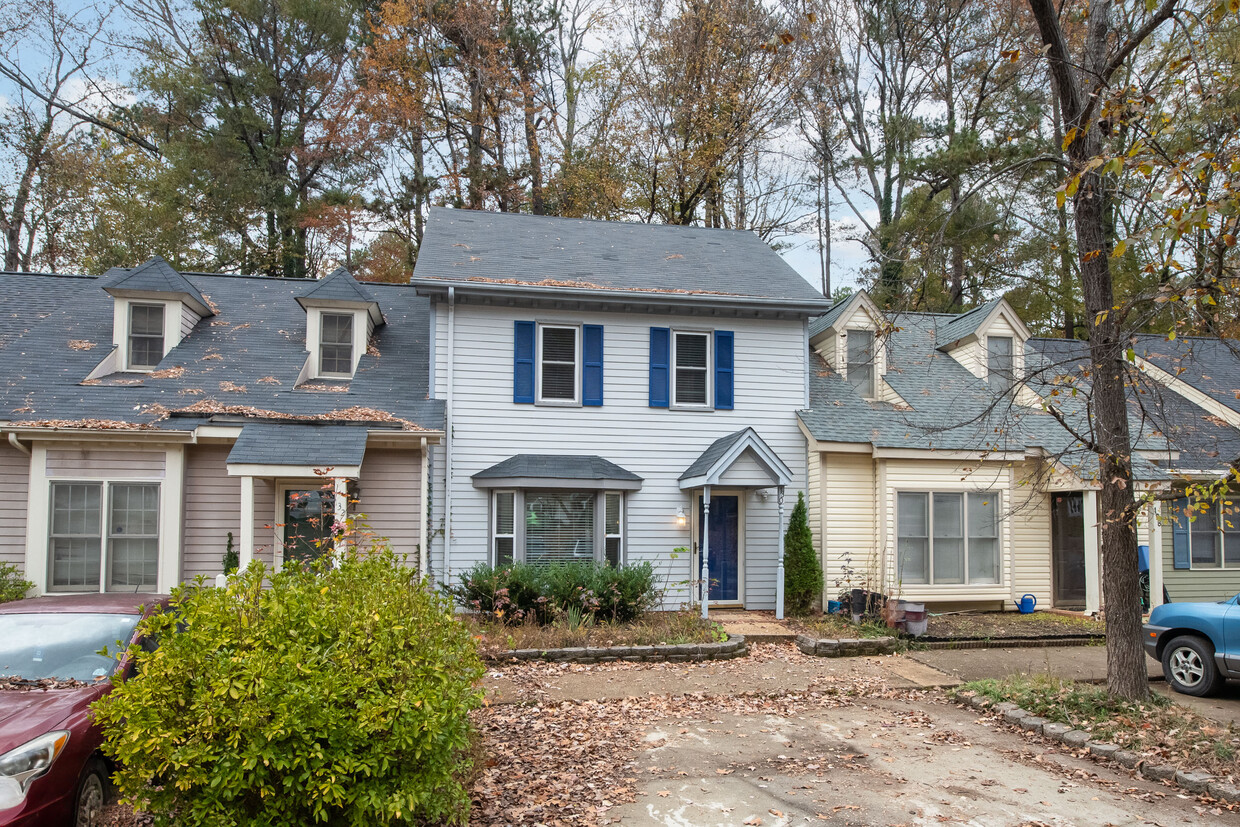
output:
[[[869,454],[823,453],[820,456],[825,591],[833,599],[841,589],[864,588],[867,579],[878,588],[874,460]],[[847,569],[854,573],[849,575]]]

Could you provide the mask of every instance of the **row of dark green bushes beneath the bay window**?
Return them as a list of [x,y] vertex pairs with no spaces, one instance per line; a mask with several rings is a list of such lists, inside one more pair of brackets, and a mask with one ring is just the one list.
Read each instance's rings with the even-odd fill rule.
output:
[[448,591],[463,608],[510,624],[547,624],[568,611],[627,622],[658,605],[661,596],[650,563],[480,563]]

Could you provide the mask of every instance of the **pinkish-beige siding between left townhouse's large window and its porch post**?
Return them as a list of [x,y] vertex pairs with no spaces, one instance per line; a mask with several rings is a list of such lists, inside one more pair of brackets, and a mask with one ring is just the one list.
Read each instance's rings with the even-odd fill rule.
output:
[[[185,539],[181,578],[208,580],[223,572],[228,532],[241,552],[241,477],[228,476],[228,445],[190,446],[185,451]],[[265,521],[264,521],[265,522]]]

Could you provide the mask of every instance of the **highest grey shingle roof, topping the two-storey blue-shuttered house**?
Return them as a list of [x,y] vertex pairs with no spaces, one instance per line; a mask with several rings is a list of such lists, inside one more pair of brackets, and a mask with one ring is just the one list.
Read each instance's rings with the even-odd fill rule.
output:
[[827,300],[751,232],[433,208],[414,280]]

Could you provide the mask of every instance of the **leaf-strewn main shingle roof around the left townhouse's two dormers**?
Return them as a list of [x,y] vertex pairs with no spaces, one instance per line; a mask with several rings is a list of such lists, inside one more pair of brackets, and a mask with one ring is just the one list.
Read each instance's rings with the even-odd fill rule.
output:
[[[184,274],[216,306],[153,373],[114,373],[84,383],[112,350],[113,298],[102,279],[0,273],[5,306],[41,307],[26,324],[0,324],[0,422],[105,420],[192,428],[212,415],[387,422],[441,430],[430,399],[429,301],[409,285],[368,289],[386,307],[350,382],[295,388],[306,362],[306,311],[298,298],[317,283]],[[114,275],[112,278],[115,278]],[[16,303],[20,298],[20,305]],[[16,321],[5,314],[4,322]]]

